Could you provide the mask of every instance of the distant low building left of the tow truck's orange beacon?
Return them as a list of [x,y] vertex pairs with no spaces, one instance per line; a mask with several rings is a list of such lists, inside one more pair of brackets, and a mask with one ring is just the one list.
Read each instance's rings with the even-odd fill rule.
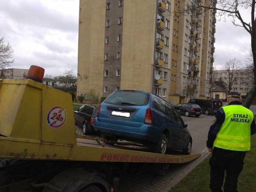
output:
[[0,79],[25,79],[28,69],[3,69],[0,70]]

